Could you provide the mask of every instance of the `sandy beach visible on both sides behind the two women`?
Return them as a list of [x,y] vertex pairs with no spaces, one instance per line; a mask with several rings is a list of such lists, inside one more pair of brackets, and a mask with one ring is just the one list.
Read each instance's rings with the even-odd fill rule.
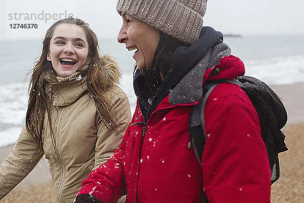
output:
[[[288,151],[280,154],[281,177],[272,186],[272,202],[304,202],[304,83],[272,87],[282,98],[288,112],[288,122],[283,128]],[[0,162],[10,153],[12,145],[0,148]],[[51,176],[46,159],[1,203],[55,202]]]

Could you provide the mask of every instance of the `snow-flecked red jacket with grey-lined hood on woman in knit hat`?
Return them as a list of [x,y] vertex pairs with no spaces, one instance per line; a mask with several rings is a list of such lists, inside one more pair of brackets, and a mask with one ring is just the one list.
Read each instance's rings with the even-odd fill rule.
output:
[[[198,42],[174,55],[174,67],[170,65],[146,112],[141,111],[142,75],[137,72],[137,107],[123,141],[82,182],[78,195],[92,194],[103,203],[116,202],[125,193],[128,203],[198,203],[204,189],[210,203],[270,202],[271,172],[259,119],[238,85],[220,84],[207,99],[201,165],[193,149],[187,148],[191,107],[198,104],[202,85],[243,75],[243,62],[230,55],[221,34],[208,27]],[[214,75],[217,68],[220,72]]]

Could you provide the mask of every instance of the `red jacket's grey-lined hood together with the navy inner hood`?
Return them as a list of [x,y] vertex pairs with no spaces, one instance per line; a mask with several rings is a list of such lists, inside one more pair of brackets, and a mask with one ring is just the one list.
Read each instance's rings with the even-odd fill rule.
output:
[[223,43],[222,33],[211,27],[203,27],[198,41],[190,47],[181,46],[175,50],[166,78],[150,106],[142,100],[143,76],[137,71],[134,90],[145,120],[168,94],[170,105],[193,103],[202,97],[203,84],[207,80],[232,79],[243,75],[243,62],[230,54],[229,46]]

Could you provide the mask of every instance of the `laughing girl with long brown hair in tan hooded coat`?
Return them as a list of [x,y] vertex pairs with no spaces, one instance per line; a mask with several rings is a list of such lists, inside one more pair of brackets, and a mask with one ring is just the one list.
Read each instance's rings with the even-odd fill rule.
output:
[[0,165],[0,199],[45,154],[57,202],[72,202],[81,181],[119,146],[131,120],[120,69],[100,56],[98,41],[80,19],[55,22],[32,71],[26,124]]

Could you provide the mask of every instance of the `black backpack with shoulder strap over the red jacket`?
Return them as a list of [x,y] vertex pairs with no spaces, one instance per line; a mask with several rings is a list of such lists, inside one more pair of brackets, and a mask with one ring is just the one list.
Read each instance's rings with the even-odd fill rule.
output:
[[[267,84],[250,76],[236,77],[232,80],[210,81],[204,84],[204,95],[200,99],[200,103],[192,107],[189,123],[192,146],[199,163],[201,164],[206,142],[205,104],[212,90],[220,83],[237,84],[250,98],[259,117],[261,137],[266,145],[271,167],[271,182],[274,183],[280,177],[278,154],[288,150],[284,142],[285,134],[281,131],[287,122],[287,113],[280,97]],[[202,202],[208,202],[205,192]]]

